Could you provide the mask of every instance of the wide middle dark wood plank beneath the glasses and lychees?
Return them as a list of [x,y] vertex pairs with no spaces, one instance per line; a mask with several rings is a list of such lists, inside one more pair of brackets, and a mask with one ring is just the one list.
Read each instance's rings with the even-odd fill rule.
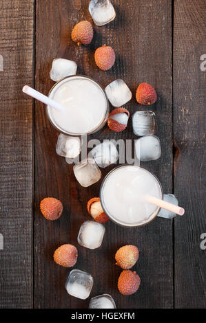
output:
[[[72,4],[71,4],[72,3]],[[36,89],[48,93],[52,59],[58,56],[76,60],[79,74],[91,76],[103,87],[116,78],[123,78],[135,94],[138,82],[150,82],[158,91],[158,102],[150,107],[158,118],[158,137],[163,156],[144,167],[161,180],[165,192],[172,191],[172,3],[171,1],[113,1],[116,19],[104,27],[94,27],[91,45],[78,47],[72,43],[70,32],[75,23],[89,19],[89,1],[37,0],[36,25]],[[161,17],[161,19],[160,19]],[[160,36],[161,35],[161,36]],[[114,47],[117,58],[114,67],[100,71],[94,64],[94,50],[104,43]],[[161,58],[161,59],[160,59]],[[133,98],[126,107],[133,113],[143,107]],[[79,250],[76,268],[94,276],[91,296],[110,293],[118,308],[173,307],[172,283],[172,222],[156,219],[147,227],[127,230],[110,222],[100,249],[80,247],[76,238],[85,219],[86,203],[99,196],[100,183],[85,189],[74,179],[72,166],[55,153],[58,133],[45,115],[43,104],[35,104],[35,218],[34,218],[34,307],[87,308],[65,291],[70,272],[52,260],[56,247],[72,243]],[[104,138],[134,139],[132,122],[127,131],[112,133],[105,129],[97,135]],[[103,176],[112,169],[103,170]],[[61,219],[49,223],[39,212],[45,196],[59,198],[64,205]],[[134,296],[121,296],[117,280],[121,269],[114,265],[114,254],[125,244],[138,245],[141,256],[135,269],[142,278],[141,289]]]

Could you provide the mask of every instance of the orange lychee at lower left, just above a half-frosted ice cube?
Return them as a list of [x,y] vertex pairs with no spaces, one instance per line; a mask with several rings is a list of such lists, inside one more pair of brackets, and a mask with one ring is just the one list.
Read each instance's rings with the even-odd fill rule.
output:
[[61,245],[54,252],[54,261],[62,267],[73,267],[76,264],[78,252],[74,245]]

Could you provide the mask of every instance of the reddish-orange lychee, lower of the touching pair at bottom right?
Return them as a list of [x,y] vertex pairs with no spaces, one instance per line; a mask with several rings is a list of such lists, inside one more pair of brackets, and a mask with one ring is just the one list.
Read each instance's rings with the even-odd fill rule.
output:
[[119,276],[118,289],[125,296],[136,293],[140,287],[141,279],[136,274],[136,271],[123,270]]

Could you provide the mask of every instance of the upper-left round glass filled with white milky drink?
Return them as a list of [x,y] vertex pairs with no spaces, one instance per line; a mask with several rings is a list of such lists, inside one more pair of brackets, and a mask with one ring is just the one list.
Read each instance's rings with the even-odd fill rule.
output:
[[52,87],[49,97],[61,104],[62,111],[47,106],[52,125],[65,135],[89,135],[107,121],[109,104],[105,91],[87,76],[68,76]]

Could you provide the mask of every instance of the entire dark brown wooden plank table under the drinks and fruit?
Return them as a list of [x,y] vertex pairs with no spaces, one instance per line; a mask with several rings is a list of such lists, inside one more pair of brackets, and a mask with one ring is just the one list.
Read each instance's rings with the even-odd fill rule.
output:
[[[91,45],[78,47],[72,27],[92,21],[87,0],[0,0],[1,30],[1,308],[87,308],[87,301],[68,296],[65,280],[70,269],[52,260],[56,247],[78,247],[76,268],[94,276],[91,296],[110,293],[119,309],[206,307],[206,251],[200,234],[206,232],[203,194],[205,149],[204,108],[206,71],[205,0],[116,0],[116,19],[94,26]],[[116,63],[110,71],[94,64],[94,50],[111,45]],[[157,135],[162,157],[142,163],[161,180],[164,192],[173,192],[185,207],[185,216],[157,218],[145,227],[128,230],[110,221],[100,249],[80,247],[81,223],[90,216],[86,203],[99,196],[100,183],[82,188],[72,166],[55,152],[59,135],[43,104],[23,95],[28,84],[48,93],[54,82],[49,71],[56,57],[78,64],[78,74],[91,76],[103,87],[123,78],[132,89],[126,104],[131,113],[144,110],[136,103],[138,83],[149,82],[158,92]],[[206,67],[206,65],[205,65]],[[111,107],[112,109],[112,107]],[[113,133],[107,126],[93,138],[136,139],[130,120],[127,130]],[[105,168],[103,175],[114,166]],[[63,203],[58,221],[46,221],[39,210],[44,197]],[[121,296],[117,280],[121,269],[114,254],[125,244],[137,245],[135,266],[141,288]]]

